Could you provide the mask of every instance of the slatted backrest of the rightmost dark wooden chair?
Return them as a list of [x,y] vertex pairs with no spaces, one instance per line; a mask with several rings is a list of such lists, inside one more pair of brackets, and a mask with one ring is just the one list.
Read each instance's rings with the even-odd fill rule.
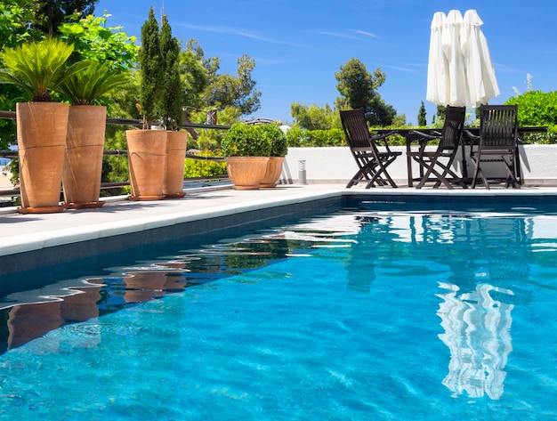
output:
[[518,142],[518,106],[482,105],[480,147],[514,151]]

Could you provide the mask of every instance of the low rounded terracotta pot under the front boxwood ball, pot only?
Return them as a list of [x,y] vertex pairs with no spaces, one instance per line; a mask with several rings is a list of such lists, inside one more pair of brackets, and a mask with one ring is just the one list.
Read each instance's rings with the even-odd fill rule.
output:
[[234,190],[258,190],[268,162],[269,157],[226,158],[226,169]]

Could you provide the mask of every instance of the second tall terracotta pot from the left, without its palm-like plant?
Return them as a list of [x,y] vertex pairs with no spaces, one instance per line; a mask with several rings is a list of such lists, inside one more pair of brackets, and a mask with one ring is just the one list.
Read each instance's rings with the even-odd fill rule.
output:
[[62,175],[64,199],[71,208],[101,207],[102,152],[107,108],[74,105],[69,108],[66,162]]

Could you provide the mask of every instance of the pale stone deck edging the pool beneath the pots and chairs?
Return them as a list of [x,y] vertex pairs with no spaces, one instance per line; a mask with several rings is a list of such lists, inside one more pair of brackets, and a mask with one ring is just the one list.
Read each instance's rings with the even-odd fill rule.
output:
[[[11,257],[37,252],[49,247],[84,245],[90,240],[115,238],[126,234],[141,234],[151,229],[200,223],[207,218],[237,218],[251,211],[273,209],[277,206],[311,204],[319,199],[340,198],[343,195],[424,195],[443,197],[464,196],[554,196],[556,187],[527,187],[513,189],[387,189],[365,190],[359,186],[346,189],[344,184],[279,185],[276,189],[232,190],[230,188],[187,190],[185,198],[157,201],[129,201],[112,198],[97,209],[64,210],[59,214],[21,215],[15,208],[0,208],[0,276]],[[439,198],[438,198],[439,200]],[[527,205],[527,204],[525,204]],[[284,208],[284,207],[283,207]],[[67,250],[71,251],[71,249]],[[40,259],[40,255],[34,258]],[[17,260],[17,259],[16,259]],[[37,263],[40,264],[40,263]],[[4,271],[2,270],[4,266]],[[12,269],[20,271],[21,268]]]

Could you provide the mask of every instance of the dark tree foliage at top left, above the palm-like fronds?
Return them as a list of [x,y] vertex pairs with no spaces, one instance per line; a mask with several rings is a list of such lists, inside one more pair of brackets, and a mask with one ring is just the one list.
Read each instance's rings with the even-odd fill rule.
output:
[[69,16],[75,13],[93,14],[94,6],[99,0],[34,0],[32,11],[35,19],[33,28],[39,29],[46,35],[54,36]]

